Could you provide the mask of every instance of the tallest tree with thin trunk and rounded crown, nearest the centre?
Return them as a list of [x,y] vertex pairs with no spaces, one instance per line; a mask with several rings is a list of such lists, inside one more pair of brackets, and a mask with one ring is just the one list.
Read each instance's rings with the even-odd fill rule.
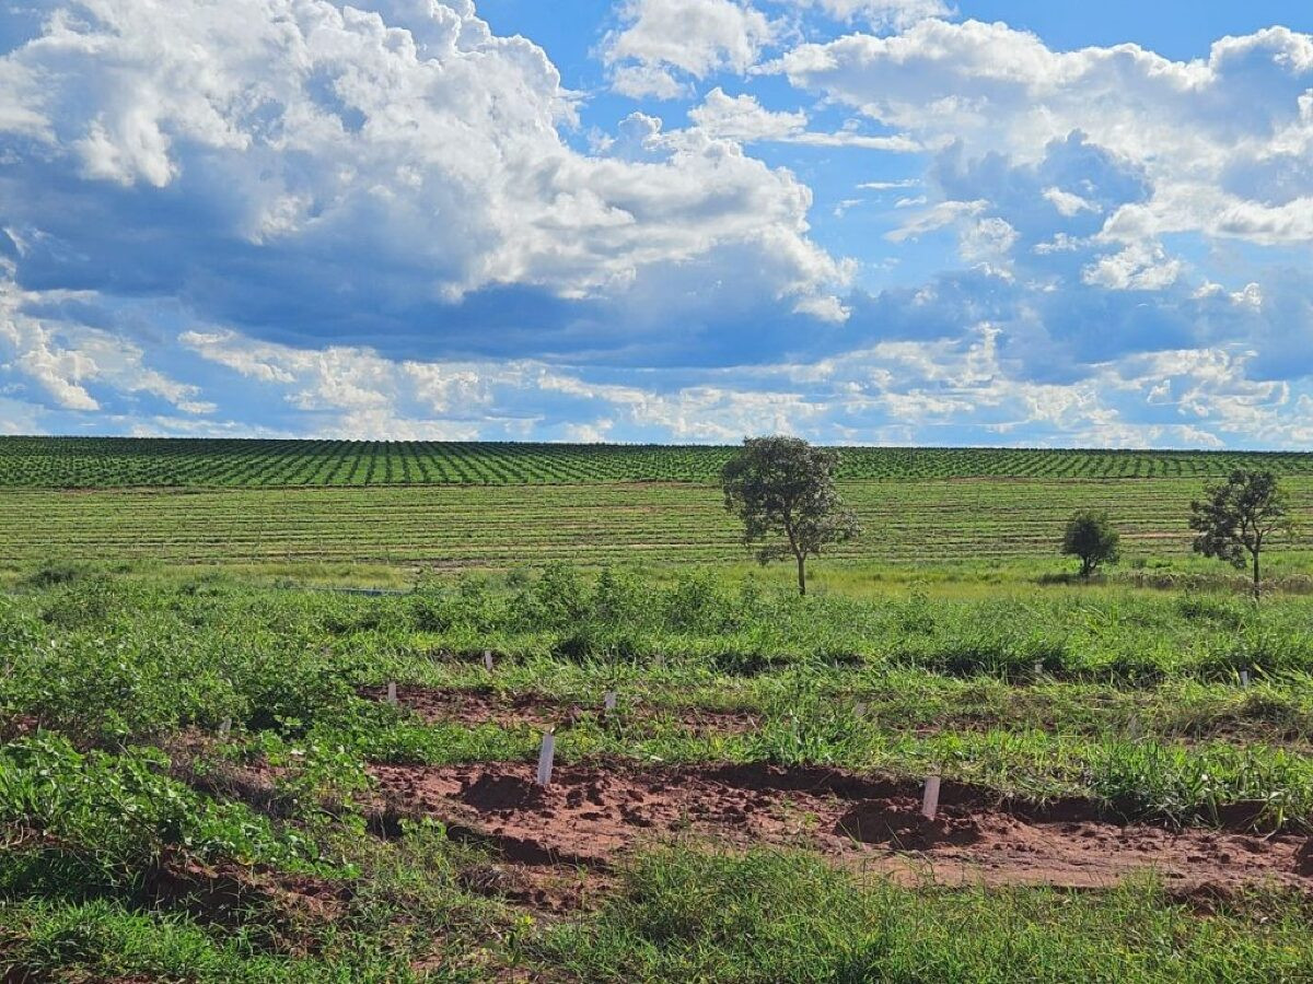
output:
[[768,564],[792,556],[798,594],[807,593],[807,555],[861,533],[856,514],[834,487],[839,454],[797,437],[750,437],[721,471],[725,508],[743,521],[743,543],[760,544]]

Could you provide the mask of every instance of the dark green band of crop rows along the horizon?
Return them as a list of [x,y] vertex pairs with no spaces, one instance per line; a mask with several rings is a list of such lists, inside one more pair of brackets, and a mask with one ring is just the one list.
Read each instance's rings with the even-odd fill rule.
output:
[[[731,447],[432,441],[0,438],[11,488],[713,483]],[[843,449],[848,480],[1203,478],[1236,467],[1313,475],[1313,454]]]

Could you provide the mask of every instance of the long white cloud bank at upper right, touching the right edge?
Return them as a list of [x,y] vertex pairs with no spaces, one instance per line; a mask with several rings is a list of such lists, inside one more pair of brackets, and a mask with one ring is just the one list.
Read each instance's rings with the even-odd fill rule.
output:
[[[1195,231],[1306,243],[1313,201],[1313,35],[1271,28],[1173,62],[1136,45],[1054,51],[1006,24],[918,21],[892,37],[801,45],[780,62],[927,146],[1041,160],[1073,133],[1140,168],[1152,189],[1107,220],[1124,241]],[[1079,188],[1050,201],[1079,209]]]

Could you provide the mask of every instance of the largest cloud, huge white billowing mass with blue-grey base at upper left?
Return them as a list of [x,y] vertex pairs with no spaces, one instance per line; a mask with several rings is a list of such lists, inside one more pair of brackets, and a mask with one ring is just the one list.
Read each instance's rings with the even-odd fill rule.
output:
[[62,0],[0,59],[16,279],[352,338],[441,337],[484,295],[532,295],[565,333],[587,311],[555,300],[622,303],[754,249],[779,277],[765,298],[842,285],[788,171],[642,114],[580,154],[574,96],[532,42],[469,3],[373,7]]

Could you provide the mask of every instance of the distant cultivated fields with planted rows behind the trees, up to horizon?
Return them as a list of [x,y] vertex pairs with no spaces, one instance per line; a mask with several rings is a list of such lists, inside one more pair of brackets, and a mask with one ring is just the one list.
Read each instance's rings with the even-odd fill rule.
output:
[[[532,567],[725,564],[746,552],[714,484],[726,447],[328,441],[0,441],[0,563]],[[1132,556],[1188,552],[1191,497],[1239,464],[1278,470],[1313,517],[1313,455],[850,449],[868,535],[840,562],[1052,556],[1077,508]],[[1296,544],[1301,548],[1304,544]]]

